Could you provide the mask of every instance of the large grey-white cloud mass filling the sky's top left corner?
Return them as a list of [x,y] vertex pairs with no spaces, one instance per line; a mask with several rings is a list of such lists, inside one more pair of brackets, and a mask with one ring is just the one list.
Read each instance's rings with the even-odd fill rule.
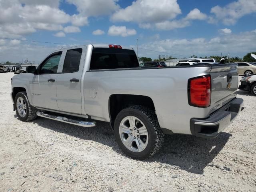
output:
[[[0,35],[20,38],[37,30],[63,30],[64,24],[84,26],[88,18],[80,14],[70,16],[58,8],[60,0],[0,0]],[[80,32],[78,28],[68,31]]]

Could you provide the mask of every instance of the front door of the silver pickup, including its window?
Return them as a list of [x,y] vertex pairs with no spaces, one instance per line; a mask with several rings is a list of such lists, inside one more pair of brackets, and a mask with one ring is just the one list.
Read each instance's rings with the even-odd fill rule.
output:
[[48,56],[36,70],[30,83],[32,103],[37,107],[59,110],[56,96],[56,80],[62,51]]

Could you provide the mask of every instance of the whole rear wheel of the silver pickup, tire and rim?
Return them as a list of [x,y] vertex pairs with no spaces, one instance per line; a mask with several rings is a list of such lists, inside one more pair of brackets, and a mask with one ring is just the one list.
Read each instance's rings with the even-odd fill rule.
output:
[[154,155],[164,142],[164,134],[154,110],[145,106],[136,105],[120,111],[114,131],[122,151],[135,159]]

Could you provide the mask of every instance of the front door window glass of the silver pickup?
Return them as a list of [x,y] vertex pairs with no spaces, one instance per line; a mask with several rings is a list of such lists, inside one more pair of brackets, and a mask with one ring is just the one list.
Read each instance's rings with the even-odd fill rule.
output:
[[54,53],[44,60],[40,67],[39,74],[57,73],[62,52]]

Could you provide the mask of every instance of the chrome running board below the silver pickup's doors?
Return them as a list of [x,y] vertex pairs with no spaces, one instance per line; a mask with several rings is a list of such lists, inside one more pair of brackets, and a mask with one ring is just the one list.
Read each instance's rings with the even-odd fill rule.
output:
[[82,126],[82,127],[96,126],[96,122],[78,121],[78,120],[74,120],[74,119],[68,119],[68,118],[62,117],[62,116],[46,114],[46,113],[43,113],[40,111],[37,111],[36,114],[37,114],[37,116],[40,116],[40,117],[44,117],[44,118],[48,118],[48,119],[52,119],[52,120],[56,120],[56,121],[60,121],[60,122],[64,122],[64,123],[69,123],[69,124],[73,124],[73,125],[77,125],[77,126]]

